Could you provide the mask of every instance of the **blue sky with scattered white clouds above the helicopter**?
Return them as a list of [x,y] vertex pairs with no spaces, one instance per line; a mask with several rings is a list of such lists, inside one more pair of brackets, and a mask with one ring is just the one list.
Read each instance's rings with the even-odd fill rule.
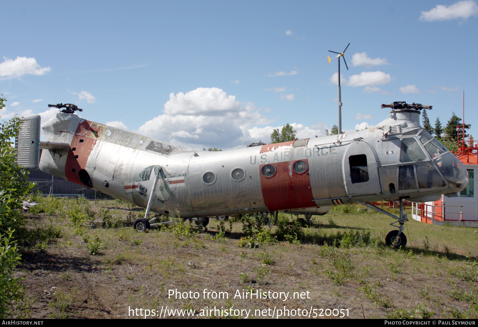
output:
[[[2,119],[75,103],[81,117],[194,148],[374,125],[380,104],[432,105],[478,128],[476,1],[8,1]],[[478,130],[477,130],[478,131]]]

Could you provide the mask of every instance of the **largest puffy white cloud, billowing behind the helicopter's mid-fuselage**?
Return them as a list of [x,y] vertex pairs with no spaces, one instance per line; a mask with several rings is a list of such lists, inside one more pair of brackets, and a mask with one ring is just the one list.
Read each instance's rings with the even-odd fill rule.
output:
[[240,102],[217,87],[199,87],[171,93],[163,113],[138,132],[196,149],[230,149],[255,142],[249,129],[270,121],[252,103]]

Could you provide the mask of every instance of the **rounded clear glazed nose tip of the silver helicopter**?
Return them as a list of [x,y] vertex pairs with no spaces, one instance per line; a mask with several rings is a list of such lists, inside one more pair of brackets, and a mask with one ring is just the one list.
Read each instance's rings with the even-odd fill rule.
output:
[[452,153],[445,153],[434,160],[438,169],[450,184],[450,193],[461,192],[468,185],[468,172]]

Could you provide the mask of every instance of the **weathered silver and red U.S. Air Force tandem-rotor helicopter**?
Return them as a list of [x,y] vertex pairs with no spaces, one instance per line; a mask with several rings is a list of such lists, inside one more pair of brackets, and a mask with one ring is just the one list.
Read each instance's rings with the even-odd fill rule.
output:
[[[140,232],[173,223],[148,219],[150,211],[206,226],[209,217],[278,211],[310,217],[359,203],[396,220],[385,242],[398,248],[407,241],[403,200],[433,201],[468,184],[463,164],[420,126],[421,110],[432,106],[382,104],[389,116],[365,130],[221,152],[85,120],[73,104],[49,107],[65,109],[41,126],[46,141],[39,140],[40,116],[23,118],[18,164],[146,208],[133,225]],[[400,215],[371,203],[378,201],[399,201]]]

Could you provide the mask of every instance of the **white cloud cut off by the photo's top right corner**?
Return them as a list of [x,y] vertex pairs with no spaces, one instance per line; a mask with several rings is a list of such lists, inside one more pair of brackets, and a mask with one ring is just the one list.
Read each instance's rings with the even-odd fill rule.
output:
[[430,11],[422,11],[420,20],[425,22],[448,21],[452,19],[468,19],[476,15],[478,5],[475,1],[458,1],[450,6],[437,5]]

